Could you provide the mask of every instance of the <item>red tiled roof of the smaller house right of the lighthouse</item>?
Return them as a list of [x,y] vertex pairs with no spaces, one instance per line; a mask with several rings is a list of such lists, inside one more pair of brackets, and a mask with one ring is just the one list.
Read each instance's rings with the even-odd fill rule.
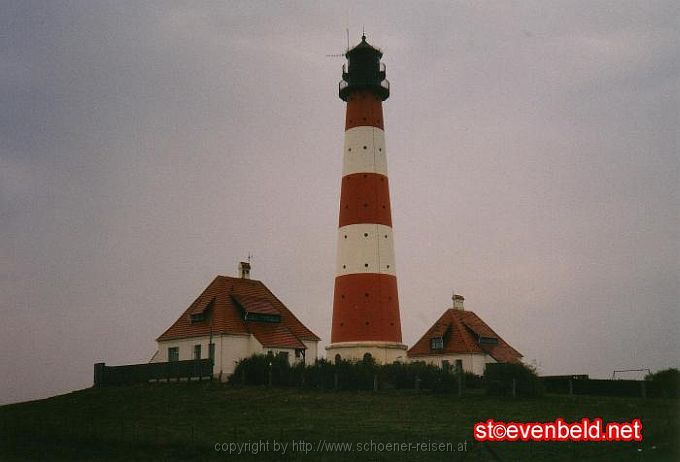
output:
[[[432,339],[442,337],[442,349],[432,349]],[[488,342],[481,343],[480,339]],[[496,343],[494,343],[496,342]],[[522,354],[511,347],[473,311],[448,309],[408,350],[409,357],[445,354],[488,354],[501,363],[519,362]]]

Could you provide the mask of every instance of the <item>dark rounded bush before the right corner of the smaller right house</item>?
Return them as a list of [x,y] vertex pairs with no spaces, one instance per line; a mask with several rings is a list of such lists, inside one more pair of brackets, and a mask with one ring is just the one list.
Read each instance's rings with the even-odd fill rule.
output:
[[484,370],[484,383],[489,395],[509,396],[512,394],[513,380],[517,396],[540,396],[543,385],[534,368],[523,363],[487,364]]

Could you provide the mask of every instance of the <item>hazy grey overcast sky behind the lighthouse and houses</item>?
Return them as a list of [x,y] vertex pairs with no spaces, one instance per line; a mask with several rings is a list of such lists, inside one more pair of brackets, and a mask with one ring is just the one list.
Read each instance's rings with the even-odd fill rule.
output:
[[0,403],[148,361],[218,274],[327,344],[384,52],[404,341],[453,289],[542,374],[680,367],[680,3],[0,2]]

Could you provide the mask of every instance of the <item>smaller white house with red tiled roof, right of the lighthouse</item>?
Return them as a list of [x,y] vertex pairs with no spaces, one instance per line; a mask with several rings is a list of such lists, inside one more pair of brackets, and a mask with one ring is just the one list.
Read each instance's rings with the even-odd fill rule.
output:
[[484,374],[488,363],[513,363],[522,354],[505,342],[472,311],[463,309],[462,295],[453,296],[447,309],[415,345],[408,350],[409,361],[424,361],[443,368]]

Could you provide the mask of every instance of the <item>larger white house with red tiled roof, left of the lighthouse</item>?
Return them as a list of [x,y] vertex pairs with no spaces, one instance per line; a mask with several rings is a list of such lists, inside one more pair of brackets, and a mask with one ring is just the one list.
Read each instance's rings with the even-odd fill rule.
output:
[[319,340],[262,282],[250,279],[250,263],[241,262],[238,278],[217,276],[156,339],[151,362],[212,358],[215,377],[226,380],[240,359],[255,353],[312,364]]

